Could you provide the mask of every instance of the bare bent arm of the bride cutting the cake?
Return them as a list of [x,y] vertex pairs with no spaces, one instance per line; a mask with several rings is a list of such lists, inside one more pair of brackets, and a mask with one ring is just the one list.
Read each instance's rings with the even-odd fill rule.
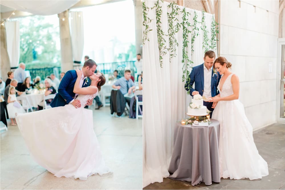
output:
[[237,77],[237,75],[233,74],[233,76],[231,77],[231,83],[233,86],[233,94],[232,95],[229,95],[226,97],[218,97],[218,95],[217,95],[217,96],[213,97],[212,100],[209,102],[231,101],[231,100],[239,99],[239,77]]

